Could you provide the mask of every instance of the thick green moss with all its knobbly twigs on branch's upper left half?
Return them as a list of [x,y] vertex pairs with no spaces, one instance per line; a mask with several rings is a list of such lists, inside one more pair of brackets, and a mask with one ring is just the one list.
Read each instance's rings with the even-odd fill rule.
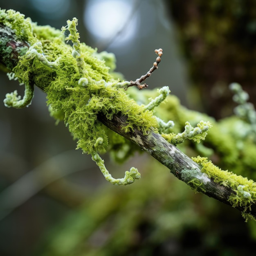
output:
[[[11,15],[13,13],[15,12],[11,12]],[[3,23],[9,25],[6,15],[5,11],[0,10],[0,20],[4,19]],[[114,136],[113,132],[99,121],[98,115],[105,115],[107,119],[112,119],[115,114],[126,116],[124,132],[130,132],[136,128],[146,135],[152,130],[162,132],[173,127],[173,121],[165,123],[156,118],[152,111],[168,96],[170,91],[167,86],[160,89],[158,91],[160,95],[146,106],[138,105],[125,93],[125,90],[133,85],[139,89],[147,87],[146,84],[141,85],[141,82],[157,68],[162,49],[155,50],[158,57],[146,75],[135,82],[115,80],[112,73],[109,73],[110,68],[112,72],[115,67],[115,58],[106,53],[98,54],[91,47],[80,43],[76,18],[68,20],[67,26],[63,27],[62,31],[33,23],[28,25],[27,22],[30,20],[24,20],[24,16],[19,18],[20,22],[23,20],[27,24],[23,26],[22,38],[27,40],[31,47],[26,53],[24,52],[23,56],[20,56],[13,72],[20,83],[25,84],[25,97],[21,100],[17,92],[14,92],[8,95],[5,104],[20,107],[30,103],[28,99],[33,97],[33,88],[30,85],[31,74],[33,74],[33,82],[47,93],[51,115],[58,121],[64,120],[74,138],[78,140],[77,148],[81,148],[83,153],[92,155],[92,159],[107,180],[114,184],[130,184],[135,179],[139,179],[140,174],[134,167],[121,179],[114,179],[109,174],[98,152],[106,152],[108,148],[118,148],[119,151],[116,150],[115,153],[122,154],[117,158],[123,160],[131,155],[134,145],[120,139],[120,135]],[[16,25],[12,28],[17,31],[20,29]],[[63,36],[65,31],[70,33],[66,38]],[[18,35],[21,36],[20,33]],[[67,45],[65,40],[71,40],[73,45]],[[101,59],[97,56],[101,56]],[[108,63],[108,66],[105,63]],[[187,122],[183,133],[166,136],[172,137],[173,144],[180,143],[186,138],[199,142],[200,139],[204,139],[210,127],[209,122],[200,122],[195,128]],[[204,177],[203,181],[205,181]]]

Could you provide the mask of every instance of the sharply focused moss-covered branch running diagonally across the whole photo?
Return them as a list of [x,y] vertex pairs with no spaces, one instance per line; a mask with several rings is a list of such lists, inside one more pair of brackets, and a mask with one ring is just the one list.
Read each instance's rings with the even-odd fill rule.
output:
[[[36,25],[29,25],[31,21],[25,20],[23,16],[23,30],[16,29],[16,26],[20,27],[22,18],[18,16],[17,20],[20,22],[17,25],[17,22],[12,23],[17,14],[9,11],[14,18],[7,18],[7,14],[8,12],[1,10],[0,33],[4,35],[0,39],[1,63],[12,70],[20,82],[30,88],[35,84],[47,93],[52,112],[64,119],[74,137],[78,138],[78,147],[92,155],[106,179],[116,184],[128,184],[138,179],[139,173],[135,168],[131,168],[130,173],[126,172],[124,179],[112,180],[104,161],[97,153],[106,150],[108,146],[108,138],[102,124],[155,157],[195,191],[239,209],[245,218],[256,218],[255,182],[222,171],[205,158],[198,157],[193,161],[159,133],[161,129],[173,126],[171,121],[157,122],[151,111],[166,98],[169,93],[167,88],[159,91],[159,97],[146,106],[137,105],[124,93],[123,89],[132,85],[139,89],[147,87],[141,85],[141,82],[157,69],[162,49],[156,50],[158,57],[150,71],[135,82],[126,82],[126,88],[122,89],[120,84],[123,82],[112,78],[108,67],[93,55],[94,50],[79,42],[76,19],[68,21],[67,27],[63,28],[63,31],[70,31],[66,38],[72,40],[73,48],[70,48],[63,43],[65,38],[61,32],[51,30],[47,34],[49,28],[37,31]],[[34,37],[29,27],[34,28]],[[36,38],[36,33],[41,41]],[[17,102],[16,98],[14,101]],[[11,103],[8,101],[7,105]],[[191,139],[198,134],[202,135],[200,139],[204,139],[211,126],[206,122],[200,123],[196,128],[190,124],[186,125],[188,128],[183,134]],[[195,137],[195,140],[198,141],[198,138]]]

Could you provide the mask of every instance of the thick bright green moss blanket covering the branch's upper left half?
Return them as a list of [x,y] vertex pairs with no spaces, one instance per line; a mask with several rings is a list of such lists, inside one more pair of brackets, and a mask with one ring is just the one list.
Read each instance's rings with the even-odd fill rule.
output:
[[[20,83],[31,90],[22,100],[15,92],[7,94],[6,105],[25,106],[27,99],[30,97],[31,100],[33,96],[33,90],[29,87],[33,79],[47,93],[51,115],[58,120],[64,119],[78,140],[77,148],[91,154],[101,170],[103,160],[97,152],[105,152],[112,141],[108,140],[106,133],[110,131],[97,118],[99,113],[108,119],[120,113],[127,116],[127,124],[123,128],[125,132],[135,128],[144,134],[152,129],[157,131],[158,123],[153,112],[129,99],[118,85],[119,80],[110,74],[110,67],[106,66],[104,58],[107,58],[112,69],[115,64],[111,65],[111,61],[115,61],[115,58],[101,54],[100,59],[95,49],[80,43],[76,18],[68,20],[62,31],[49,26],[37,26],[13,10],[0,10],[0,21],[31,45],[26,53],[20,49],[25,54],[20,56],[18,65],[13,68]],[[72,46],[66,43],[68,40]],[[99,138],[101,143],[98,143]],[[130,183],[128,178],[124,179]]]

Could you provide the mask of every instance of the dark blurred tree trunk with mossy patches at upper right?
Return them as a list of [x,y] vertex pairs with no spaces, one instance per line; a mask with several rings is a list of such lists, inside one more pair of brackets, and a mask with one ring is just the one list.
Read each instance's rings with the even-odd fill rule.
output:
[[[191,105],[222,118],[231,114],[228,85],[237,82],[254,100],[256,2],[166,0],[189,67]],[[192,97],[193,96],[193,97]],[[253,102],[255,103],[255,101]]]

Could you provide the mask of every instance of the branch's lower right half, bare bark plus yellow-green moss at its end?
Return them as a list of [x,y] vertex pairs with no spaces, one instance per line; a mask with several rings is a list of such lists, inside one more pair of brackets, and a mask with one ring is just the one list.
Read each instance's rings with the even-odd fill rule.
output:
[[[255,197],[256,183],[252,180],[248,181],[247,178],[233,174],[236,180],[232,183],[234,177],[229,178],[229,172],[222,171],[211,162],[206,161],[205,158],[194,158],[195,161],[193,161],[154,131],[151,131],[148,135],[144,135],[137,129],[124,133],[120,128],[126,125],[127,117],[115,115],[112,120],[108,120],[101,115],[99,119],[110,129],[134,142],[164,166],[168,167],[173,175],[191,186],[196,192],[202,192],[220,202],[232,205],[242,211],[245,218],[256,218],[256,203],[255,199],[252,199],[252,197]],[[219,177],[220,180],[216,177]],[[224,181],[233,185],[228,186]],[[238,196],[240,186],[244,186],[243,184],[246,184],[247,189],[249,188],[247,192],[252,196],[245,197],[245,200],[243,200],[243,197]],[[234,203],[233,200],[236,200],[236,202]]]

